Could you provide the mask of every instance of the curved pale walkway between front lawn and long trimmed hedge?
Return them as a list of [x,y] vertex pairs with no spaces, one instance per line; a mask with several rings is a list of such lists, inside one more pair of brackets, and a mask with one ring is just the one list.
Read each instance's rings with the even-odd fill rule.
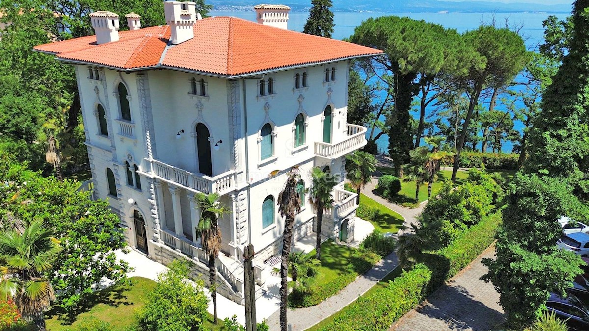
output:
[[[330,297],[316,306],[289,309],[287,317],[288,323],[292,325],[292,331],[305,330],[307,327],[316,325],[323,319],[339,312],[343,307],[348,306],[348,304],[358,299],[359,296],[366,293],[370,287],[383,279],[396,266],[397,258],[395,253],[391,253],[335,296]],[[270,330],[280,330],[280,312],[278,311],[270,316],[267,323],[270,326]]]

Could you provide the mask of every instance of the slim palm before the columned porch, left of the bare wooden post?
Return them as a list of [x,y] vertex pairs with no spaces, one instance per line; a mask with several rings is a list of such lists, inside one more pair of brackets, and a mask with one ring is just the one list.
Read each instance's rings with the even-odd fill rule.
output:
[[213,300],[213,316],[215,324],[217,324],[217,267],[215,262],[219,257],[221,250],[221,229],[219,227],[219,219],[229,213],[225,206],[221,206],[219,202],[219,193],[197,193],[196,208],[200,208],[201,216],[198,225],[196,226],[196,235],[200,237],[201,245],[204,253],[209,255],[209,283],[211,291],[211,299]]

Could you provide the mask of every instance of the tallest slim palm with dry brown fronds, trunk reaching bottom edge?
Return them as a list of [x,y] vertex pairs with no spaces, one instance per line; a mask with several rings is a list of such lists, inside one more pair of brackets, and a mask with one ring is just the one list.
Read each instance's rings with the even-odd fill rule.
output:
[[289,294],[288,272],[290,244],[292,244],[294,217],[300,212],[300,195],[297,190],[300,180],[299,167],[293,167],[288,174],[286,184],[278,195],[278,212],[284,220],[282,234],[282,260],[280,262],[280,329],[287,331],[286,300]]

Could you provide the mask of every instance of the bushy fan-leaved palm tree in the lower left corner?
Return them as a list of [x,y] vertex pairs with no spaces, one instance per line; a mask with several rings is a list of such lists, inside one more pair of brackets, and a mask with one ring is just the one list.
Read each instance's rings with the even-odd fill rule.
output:
[[51,269],[61,247],[45,229],[33,220],[22,233],[0,233],[0,294],[14,297],[21,316],[46,330],[43,313],[55,300],[55,293],[44,273]]

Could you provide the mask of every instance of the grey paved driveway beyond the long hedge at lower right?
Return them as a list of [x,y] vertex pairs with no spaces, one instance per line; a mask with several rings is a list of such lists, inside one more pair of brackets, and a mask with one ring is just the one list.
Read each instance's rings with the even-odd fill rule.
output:
[[488,270],[481,260],[494,256],[495,247],[489,247],[389,331],[494,330],[504,322],[499,294],[491,283],[479,280]]

